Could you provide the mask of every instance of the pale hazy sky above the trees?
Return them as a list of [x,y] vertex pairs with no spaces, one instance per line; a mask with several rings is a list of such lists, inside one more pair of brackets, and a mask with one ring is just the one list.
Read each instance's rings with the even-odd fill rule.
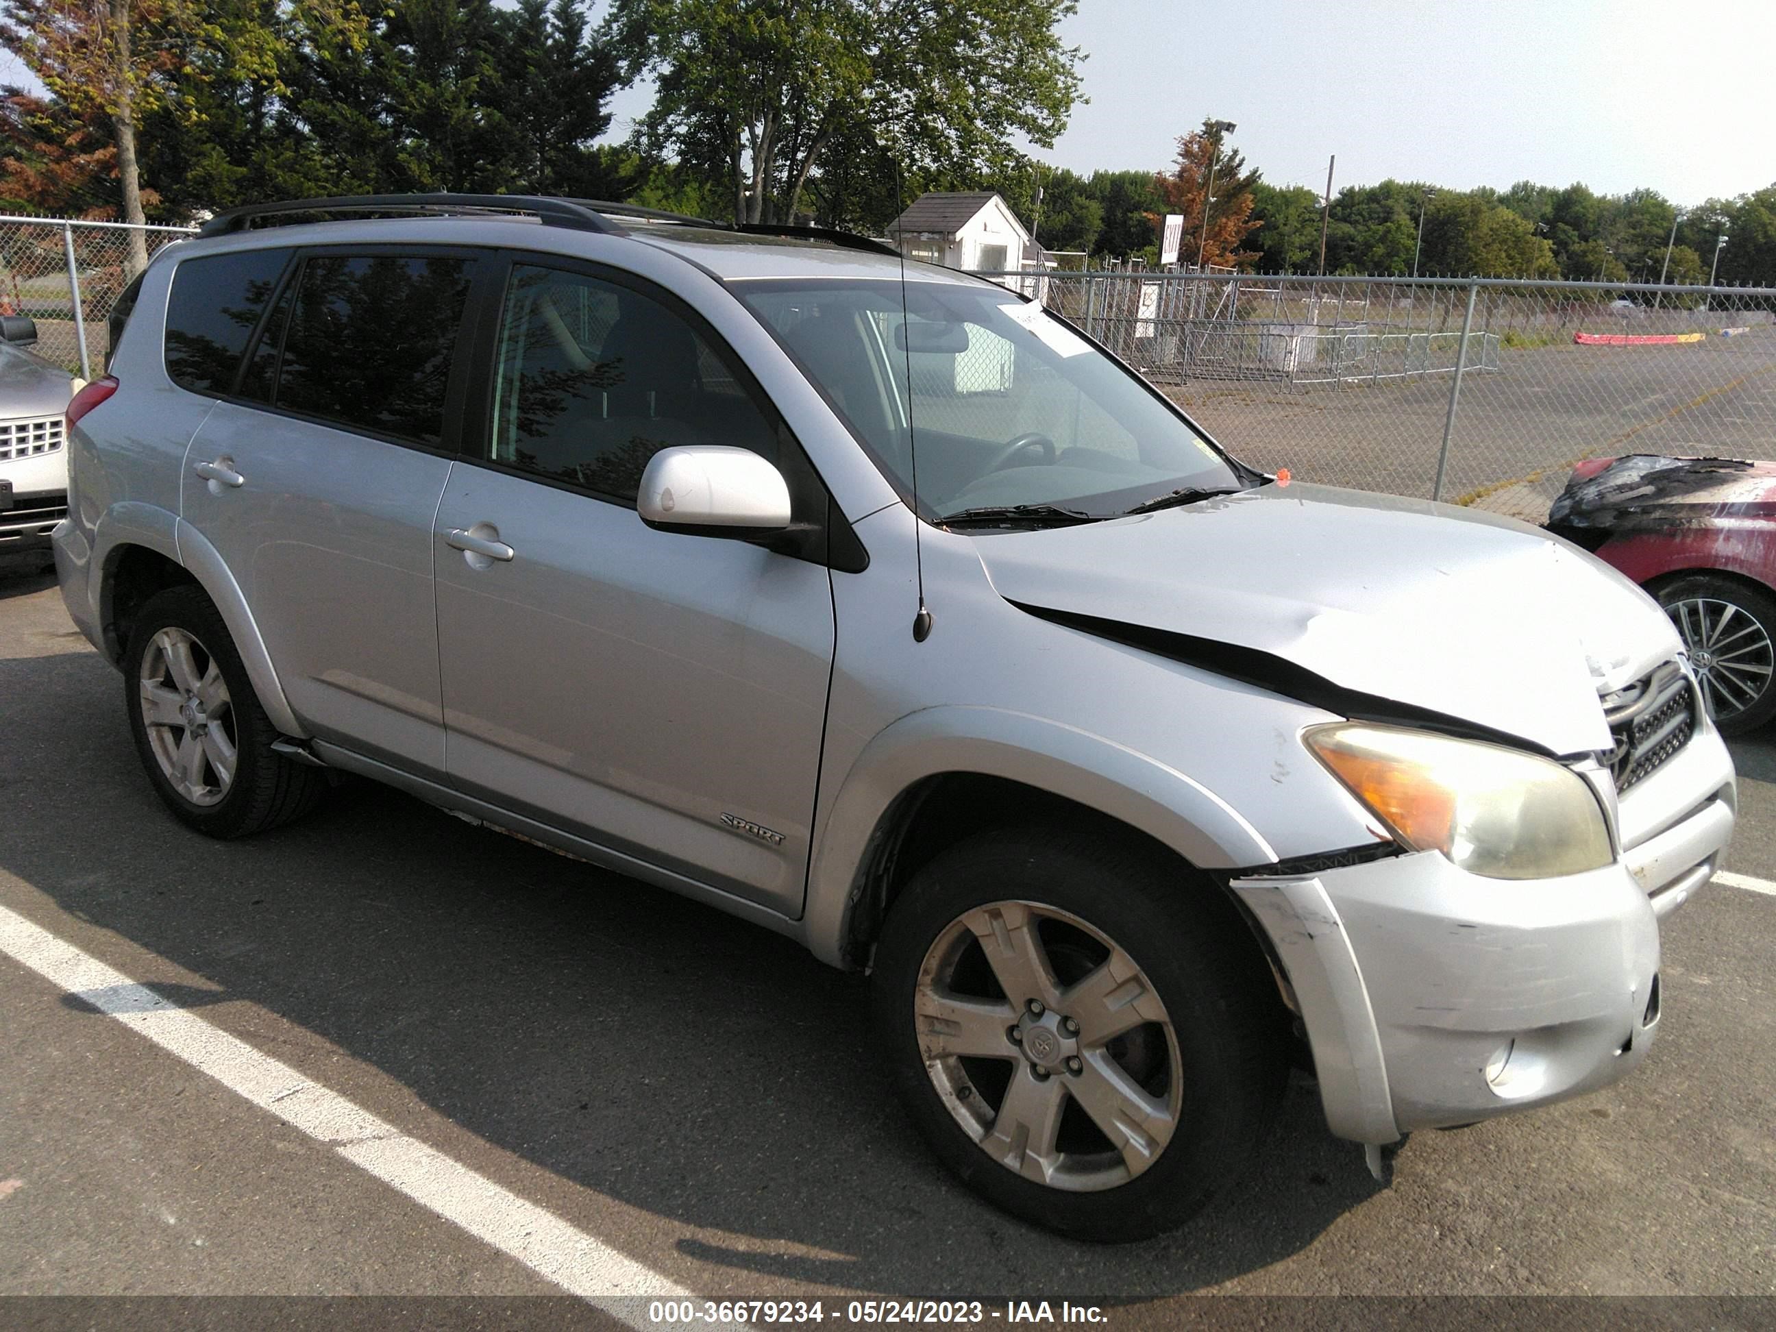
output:
[[[1080,0],[1078,172],[1169,167],[1233,121],[1272,185],[1584,181],[1680,206],[1776,183],[1776,0]],[[613,139],[648,91],[611,101]]]

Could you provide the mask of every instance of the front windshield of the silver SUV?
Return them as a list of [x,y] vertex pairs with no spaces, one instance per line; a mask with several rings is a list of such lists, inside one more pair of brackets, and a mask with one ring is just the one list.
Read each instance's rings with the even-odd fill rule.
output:
[[908,282],[902,316],[895,279],[732,289],[902,494],[918,446],[927,519],[1082,520],[1243,487],[1140,380],[1011,291]]

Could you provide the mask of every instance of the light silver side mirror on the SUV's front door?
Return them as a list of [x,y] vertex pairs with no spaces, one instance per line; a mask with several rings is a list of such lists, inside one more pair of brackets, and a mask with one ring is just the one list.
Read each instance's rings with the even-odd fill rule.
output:
[[790,526],[783,472],[751,449],[682,444],[641,472],[636,511],[650,527],[698,536],[762,536]]

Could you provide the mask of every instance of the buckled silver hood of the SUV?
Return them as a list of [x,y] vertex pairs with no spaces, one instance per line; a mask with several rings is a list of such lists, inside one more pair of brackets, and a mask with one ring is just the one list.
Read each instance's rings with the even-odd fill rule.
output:
[[1027,609],[1265,654],[1284,664],[1277,678],[1295,668],[1556,755],[1607,749],[1598,693],[1680,646],[1639,588],[1577,547],[1392,496],[1266,485],[980,533],[975,547],[998,593]]

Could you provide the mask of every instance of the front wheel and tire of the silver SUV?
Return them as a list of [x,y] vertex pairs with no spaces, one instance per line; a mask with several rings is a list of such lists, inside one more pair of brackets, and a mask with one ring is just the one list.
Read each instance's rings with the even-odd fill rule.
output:
[[1206,1208],[1282,1096],[1280,1003],[1234,909],[1087,833],[940,854],[876,948],[876,1021],[932,1151],[1005,1211],[1142,1240]]

